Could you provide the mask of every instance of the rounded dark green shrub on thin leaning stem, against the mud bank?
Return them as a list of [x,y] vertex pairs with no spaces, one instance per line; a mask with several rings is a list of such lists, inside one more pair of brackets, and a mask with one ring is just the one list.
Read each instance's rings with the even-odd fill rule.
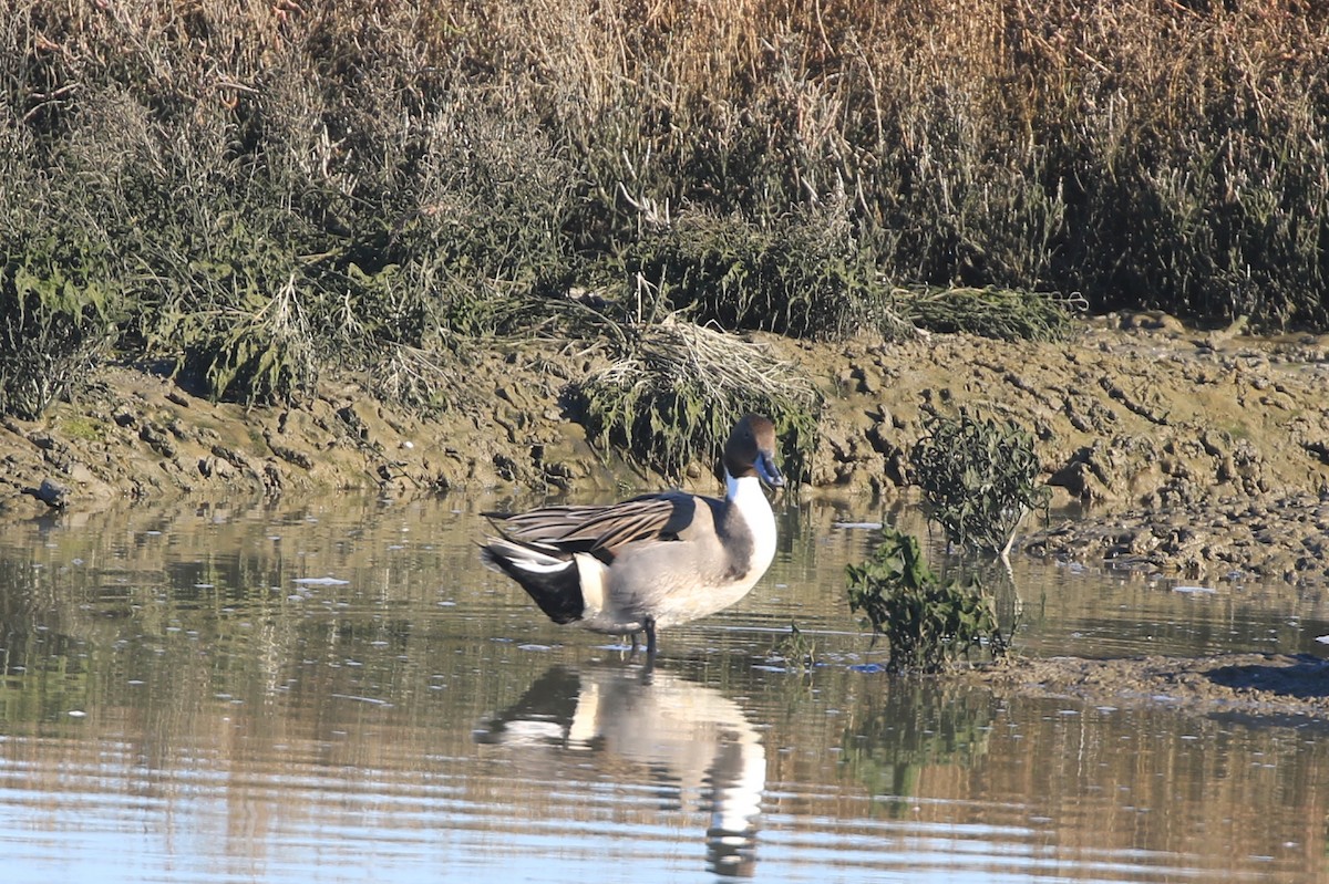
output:
[[1047,487],[1038,484],[1042,466],[1033,437],[964,409],[954,418],[929,415],[924,429],[910,465],[929,518],[952,543],[1006,555],[1021,519],[1049,498]]

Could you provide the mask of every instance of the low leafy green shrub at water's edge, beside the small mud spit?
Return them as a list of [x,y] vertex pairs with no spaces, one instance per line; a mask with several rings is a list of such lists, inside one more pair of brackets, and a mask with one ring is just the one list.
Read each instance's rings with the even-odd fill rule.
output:
[[912,535],[882,528],[881,544],[863,564],[847,565],[845,577],[849,609],[890,645],[890,672],[940,672],[985,644],[993,658],[1006,650],[991,597],[942,583]]

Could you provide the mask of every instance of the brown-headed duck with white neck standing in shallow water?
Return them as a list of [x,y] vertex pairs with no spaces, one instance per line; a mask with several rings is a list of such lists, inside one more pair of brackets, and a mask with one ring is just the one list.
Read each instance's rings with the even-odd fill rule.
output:
[[775,425],[746,414],[724,443],[724,499],[682,490],[606,506],[484,514],[496,535],[486,565],[512,577],[554,623],[646,636],[743,599],[775,559],[775,512],[763,483],[784,487]]

